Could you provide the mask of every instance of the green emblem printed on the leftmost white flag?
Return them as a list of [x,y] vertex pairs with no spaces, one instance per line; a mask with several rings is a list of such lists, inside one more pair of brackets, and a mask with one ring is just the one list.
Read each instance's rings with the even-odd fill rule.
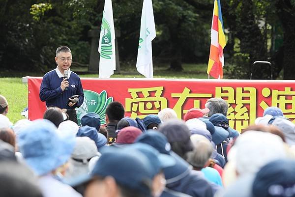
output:
[[102,33],[100,56],[106,59],[111,59],[112,57],[110,55],[113,55],[111,28],[107,20],[104,18],[102,18],[100,33]]

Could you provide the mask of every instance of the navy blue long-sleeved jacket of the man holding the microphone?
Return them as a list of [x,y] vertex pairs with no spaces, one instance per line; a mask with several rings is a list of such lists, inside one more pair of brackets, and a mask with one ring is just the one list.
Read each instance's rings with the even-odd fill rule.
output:
[[[79,108],[84,101],[84,92],[80,77],[69,71],[68,79],[69,86],[67,90],[62,91],[60,83],[63,80],[63,75],[58,68],[49,71],[43,77],[39,97],[41,101],[46,102],[47,107],[59,107],[61,109]],[[73,107],[67,106],[68,99],[73,95],[79,95],[79,101]]]

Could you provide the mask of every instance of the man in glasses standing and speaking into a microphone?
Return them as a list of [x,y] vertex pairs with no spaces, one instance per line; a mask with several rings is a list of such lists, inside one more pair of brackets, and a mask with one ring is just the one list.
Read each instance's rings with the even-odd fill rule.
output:
[[80,77],[70,71],[72,64],[71,50],[66,46],[57,49],[55,60],[57,68],[43,77],[39,97],[46,102],[46,107],[59,107],[69,115],[69,120],[77,121],[76,107],[84,101]]

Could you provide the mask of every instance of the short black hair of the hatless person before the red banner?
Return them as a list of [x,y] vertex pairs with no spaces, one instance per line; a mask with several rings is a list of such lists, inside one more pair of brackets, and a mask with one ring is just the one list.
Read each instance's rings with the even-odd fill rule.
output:
[[124,117],[125,110],[120,102],[114,101],[107,106],[106,114],[110,121],[119,121]]

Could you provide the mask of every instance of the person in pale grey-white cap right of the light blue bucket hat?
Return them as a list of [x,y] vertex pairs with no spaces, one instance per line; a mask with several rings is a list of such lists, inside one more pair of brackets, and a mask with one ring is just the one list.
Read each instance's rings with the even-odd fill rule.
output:
[[89,137],[76,137],[76,144],[69,159],[64,179],[73,179],[81,174],[89,173],[89,161],[95,156],[100,156],[95,142]]

